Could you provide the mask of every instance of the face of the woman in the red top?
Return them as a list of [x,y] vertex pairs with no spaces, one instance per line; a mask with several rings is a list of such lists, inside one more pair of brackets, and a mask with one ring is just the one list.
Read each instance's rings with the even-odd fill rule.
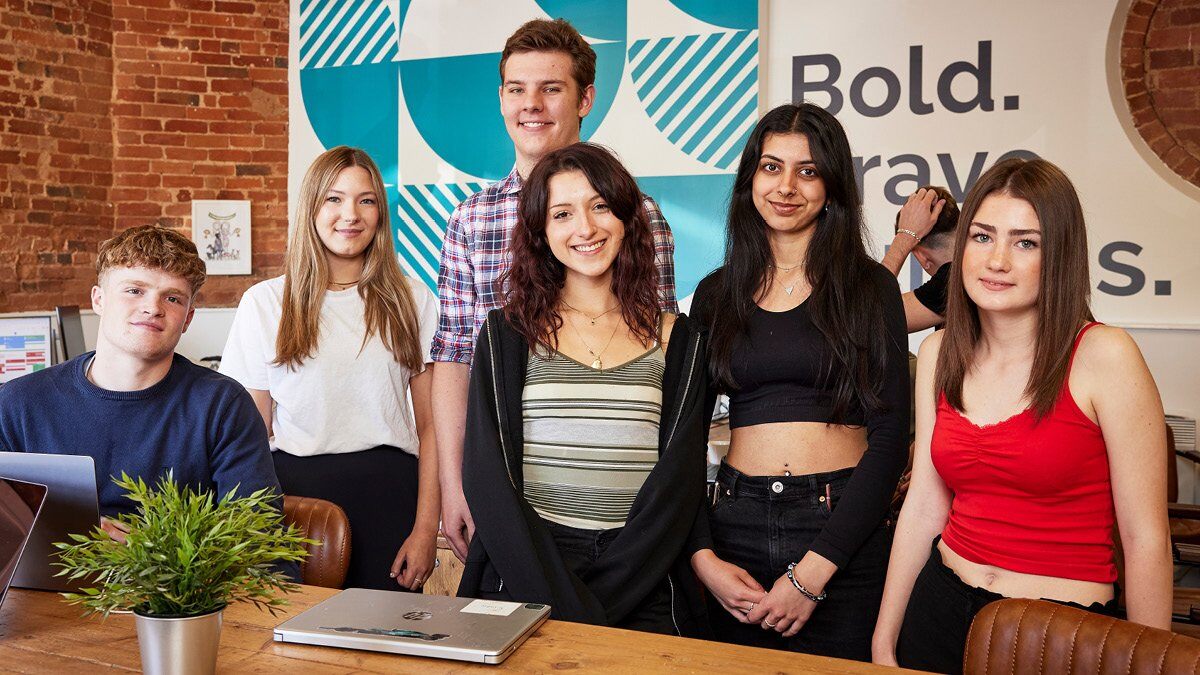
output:
[[1033,205],[995,192],[970,223],[962,285],[980,311],[1037,309],[1042,285],[1042,223]]

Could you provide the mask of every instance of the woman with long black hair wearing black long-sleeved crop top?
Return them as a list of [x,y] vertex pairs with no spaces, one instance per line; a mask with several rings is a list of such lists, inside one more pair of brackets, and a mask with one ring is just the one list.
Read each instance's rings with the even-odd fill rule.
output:
[[870,659],[910,389],[900,291],[863,237],[838,120],[767,113],[742,153],[725,265],[692,304],[730,394],[710,539],[692,556],[719,639]]

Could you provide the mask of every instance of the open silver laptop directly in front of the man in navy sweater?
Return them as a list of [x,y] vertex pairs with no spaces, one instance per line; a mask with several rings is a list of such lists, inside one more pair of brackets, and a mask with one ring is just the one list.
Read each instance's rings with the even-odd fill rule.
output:
[[86,534],[100,525],[96,497],[96,462],[86,455],[52,455],[0,452],[0,476],[46,485],[46,504],[29,537],[25,555],[13,577],[19,589],[78,591],[86,579],[68,581],[55,577],[61,568],[55,542],[70,542],[70,534]]

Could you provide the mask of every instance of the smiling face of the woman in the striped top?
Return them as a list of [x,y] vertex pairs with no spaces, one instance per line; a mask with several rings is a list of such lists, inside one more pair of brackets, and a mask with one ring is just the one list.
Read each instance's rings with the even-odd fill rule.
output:
[[613,215],[582,172],[552,175],[547,192],[546,239],[551,252],[566,268],[568,280],[610,282],[625,223]]

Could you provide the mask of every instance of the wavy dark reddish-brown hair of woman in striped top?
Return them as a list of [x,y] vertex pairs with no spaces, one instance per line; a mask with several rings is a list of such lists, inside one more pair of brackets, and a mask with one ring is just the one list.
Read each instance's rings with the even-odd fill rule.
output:
[[509,243],[512,264],[499,281],[505,288],[504,316],[529,345],[558,348],[558,329],[563,327],[558,303],[566,268],[550,250],[546,217],[550,179],[571,171],[582,173],[625,225],[620,251],[612,263],[612,292],[634,335],[643,342],[658,340],[659,276],[642,191],[612,153],[592,143],[576,143],[546,155],[521,186],[517,225]]

